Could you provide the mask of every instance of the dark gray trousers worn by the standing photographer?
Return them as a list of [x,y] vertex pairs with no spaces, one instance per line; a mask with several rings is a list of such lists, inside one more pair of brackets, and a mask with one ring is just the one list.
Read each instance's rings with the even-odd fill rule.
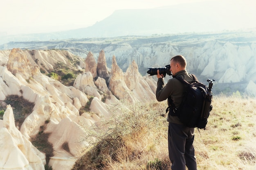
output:
[[172,170],[196,170],[194,128],[182,124],[169,123],[168,149]]

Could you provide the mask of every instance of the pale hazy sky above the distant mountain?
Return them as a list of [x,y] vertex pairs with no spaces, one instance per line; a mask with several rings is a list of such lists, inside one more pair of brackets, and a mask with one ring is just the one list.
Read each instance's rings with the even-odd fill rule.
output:
[[[202,1],[216,0],[2,0],[0,35],[86,28],[119,9],[151,9]],[[254,0],[243,0],[245,2],[256,6]]]

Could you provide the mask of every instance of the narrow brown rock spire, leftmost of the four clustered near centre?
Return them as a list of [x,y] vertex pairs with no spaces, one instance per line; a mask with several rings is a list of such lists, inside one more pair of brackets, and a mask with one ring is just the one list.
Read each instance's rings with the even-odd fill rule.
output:
[[97,76],[97,64],[92,52],[89,52],[87,54],[87,57],[85,58],[84,68],[85,68],[85,72],[92,73],[93,78]]

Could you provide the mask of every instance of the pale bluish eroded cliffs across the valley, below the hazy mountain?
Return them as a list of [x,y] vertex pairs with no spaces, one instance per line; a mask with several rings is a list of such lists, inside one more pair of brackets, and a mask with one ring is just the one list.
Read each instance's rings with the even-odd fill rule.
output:
[[182,34],[129,36],[115,38],[67,39],[61,41],[9,42],[0,49],[63,49],[97,60],[104,50],[108,68],[115,55],[117,65],[126,72],[132,61],[141,75],[148,67],[164,67],[174,55],[182,54],[188,61],[187,70],[207,83],[213,78],[215,94],[245,92],[256,94],[256,32],[225,32],[218,34]]

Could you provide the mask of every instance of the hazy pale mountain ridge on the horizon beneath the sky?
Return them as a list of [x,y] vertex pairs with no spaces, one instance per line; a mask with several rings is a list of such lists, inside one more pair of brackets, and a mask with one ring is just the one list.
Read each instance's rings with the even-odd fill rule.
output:
[[26,35],[2,34],[0,44],[9,41],[145,36],[256,28],[253,14],[254,8],[245,7],[244,1],[241,0],[197,2],[155,9],[117,10],[87,28]]

